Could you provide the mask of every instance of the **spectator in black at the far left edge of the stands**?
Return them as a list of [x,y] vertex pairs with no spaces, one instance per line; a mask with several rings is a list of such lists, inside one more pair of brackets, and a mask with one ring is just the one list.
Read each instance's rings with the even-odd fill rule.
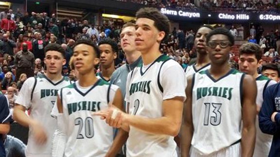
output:
[[14,55],[14,47],[17,47],[16,43],[10,40],[7,34],[3,34],[2,42],[0,42],[0,50],[4,57]]

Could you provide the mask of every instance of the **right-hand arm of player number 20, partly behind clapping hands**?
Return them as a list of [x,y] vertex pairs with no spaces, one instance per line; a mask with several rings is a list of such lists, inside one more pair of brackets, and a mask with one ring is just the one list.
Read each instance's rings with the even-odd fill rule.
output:
[[[118,109],[123,110],[123,99],[122,99],[122,92],[120,89],[116,91],[113,104]],[[122,149],[122,146],[127,140],[127,138],[128,138],[128,132],[124,131],[122,128],[119,128],[118,134],[116,135],[113,144],[110,147],[105,157],[115,157]]]

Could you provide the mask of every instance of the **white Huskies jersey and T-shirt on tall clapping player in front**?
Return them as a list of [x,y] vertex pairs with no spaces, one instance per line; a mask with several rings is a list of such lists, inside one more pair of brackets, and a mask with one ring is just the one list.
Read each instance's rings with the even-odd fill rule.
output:
[[[139,64],[128,74],[127,110],[129,114],[141,117],[160,118],[163,116],[162,102],[176,96],[185,98],[185,88],[183,68],[168,56],[161,55],[153,63]],[[177,157],[174,137],[147,133],[133,126],[130,126],[126,144],[127,157]]]

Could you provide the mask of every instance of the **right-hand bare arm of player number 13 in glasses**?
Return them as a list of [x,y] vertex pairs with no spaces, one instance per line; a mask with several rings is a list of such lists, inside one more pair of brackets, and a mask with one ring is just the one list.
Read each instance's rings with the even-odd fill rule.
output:
[[257,85],[254,78],[245,75],[243,80],[243,102],[242,102],[242,157],[252,157],[256,141],[256,96]]

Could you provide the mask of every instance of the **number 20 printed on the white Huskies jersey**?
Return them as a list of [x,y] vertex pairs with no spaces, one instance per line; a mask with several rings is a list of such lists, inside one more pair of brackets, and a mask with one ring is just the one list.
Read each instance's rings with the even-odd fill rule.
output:
[[[81,133],[82,128],[84,126],[84,121],[82,118],[75,119],[75,126],[79,126],[77,139],[84,139],[84,135]],[[93,130],[93,119],[91,117],[87,117],[85,119],[85,136],[90,139],[94,136]]]

